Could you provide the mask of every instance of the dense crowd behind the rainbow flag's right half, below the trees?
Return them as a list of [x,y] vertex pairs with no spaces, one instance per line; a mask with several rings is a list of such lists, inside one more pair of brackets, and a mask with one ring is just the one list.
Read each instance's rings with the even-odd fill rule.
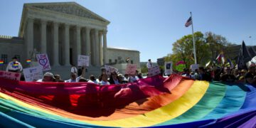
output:
[[[195,80],[222,81],[222,82],[245,82],[247,84],[256,85],[256,66],[250,65],[247,70],[238,68],[223,67],[199,67],[196,70],[185,68],[183,77],[193,78]],[[177,73],[176,71],[174,71]]]

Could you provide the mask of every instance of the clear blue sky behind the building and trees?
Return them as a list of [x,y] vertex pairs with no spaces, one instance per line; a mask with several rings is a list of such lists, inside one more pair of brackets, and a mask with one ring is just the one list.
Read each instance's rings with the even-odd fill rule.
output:
[[[61,0],[65,1],[65,0]],[[18,36],[24,3],[59,0],[1,0],[0,35]],[[256,45],[255,0],[78,0],[110,21],[107,46],[139,50],[140,61],[172,53],[172,44],[191,34],[184,24],[193,14],[194,31],[211,31],[231,43]],[[251,38],[249,38],[251,36]]]

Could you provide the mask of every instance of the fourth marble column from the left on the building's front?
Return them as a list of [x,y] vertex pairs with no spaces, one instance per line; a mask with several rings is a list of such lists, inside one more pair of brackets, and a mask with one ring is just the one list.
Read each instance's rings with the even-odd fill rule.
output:
[[68,24],[65,24],[65,40],[64,40],[64,65],[69,66],[70,65],[70,32],[69,32],[70,26]]

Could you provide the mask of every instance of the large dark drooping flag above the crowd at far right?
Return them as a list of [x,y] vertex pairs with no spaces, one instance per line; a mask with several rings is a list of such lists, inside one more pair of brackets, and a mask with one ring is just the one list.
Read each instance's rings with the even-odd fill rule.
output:
[[252,59],[247,47],[245,46],[245,42],[242,41],[242,46],[240,48],[240,52],[238,55],[238,70],[247,69],[246,63]]

